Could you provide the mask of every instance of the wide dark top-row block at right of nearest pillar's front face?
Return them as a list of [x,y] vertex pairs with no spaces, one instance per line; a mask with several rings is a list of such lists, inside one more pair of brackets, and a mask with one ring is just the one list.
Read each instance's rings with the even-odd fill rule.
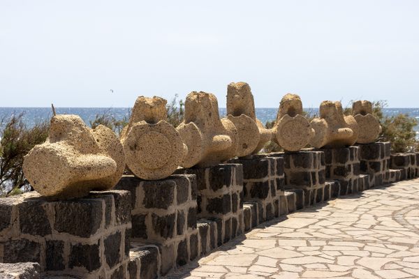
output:
[[54,229],[58,232],[89,237],[101,227],[103,207],[100,199],[61,201],[55,203],[54,208]]

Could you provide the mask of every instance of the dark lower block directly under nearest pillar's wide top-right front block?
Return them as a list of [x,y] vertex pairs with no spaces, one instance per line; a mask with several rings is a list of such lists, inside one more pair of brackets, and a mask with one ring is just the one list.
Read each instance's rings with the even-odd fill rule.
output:
[[75,244],[71,246],[68,266],[84,267],[87,271],[95,271],[101,267],[101,255],[99,252],[99,241],[97,244]]

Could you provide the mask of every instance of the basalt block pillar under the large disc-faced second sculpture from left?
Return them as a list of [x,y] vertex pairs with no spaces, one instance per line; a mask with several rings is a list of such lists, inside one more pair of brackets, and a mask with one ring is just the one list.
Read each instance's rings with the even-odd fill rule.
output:
[[165,275],[198,255],[197,183],[191,174],[145,181],[123,176],[115,186],[133,197],[131,239],[159,248],[160,272]]

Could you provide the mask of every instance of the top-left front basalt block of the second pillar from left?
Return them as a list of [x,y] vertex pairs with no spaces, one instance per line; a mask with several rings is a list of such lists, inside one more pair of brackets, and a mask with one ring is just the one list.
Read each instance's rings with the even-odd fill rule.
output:
[[146,209],[168,209],[174,202],[175,181],[145,181],[142,188]]

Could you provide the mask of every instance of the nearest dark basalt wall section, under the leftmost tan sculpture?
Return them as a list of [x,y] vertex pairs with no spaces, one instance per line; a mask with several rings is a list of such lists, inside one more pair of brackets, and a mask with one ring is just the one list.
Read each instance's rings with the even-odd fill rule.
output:
[[37,262],[47,274],[82,278],[124,273],[130,204],[118,190],[59,202],[35,192],[0,199],[0,262]]

